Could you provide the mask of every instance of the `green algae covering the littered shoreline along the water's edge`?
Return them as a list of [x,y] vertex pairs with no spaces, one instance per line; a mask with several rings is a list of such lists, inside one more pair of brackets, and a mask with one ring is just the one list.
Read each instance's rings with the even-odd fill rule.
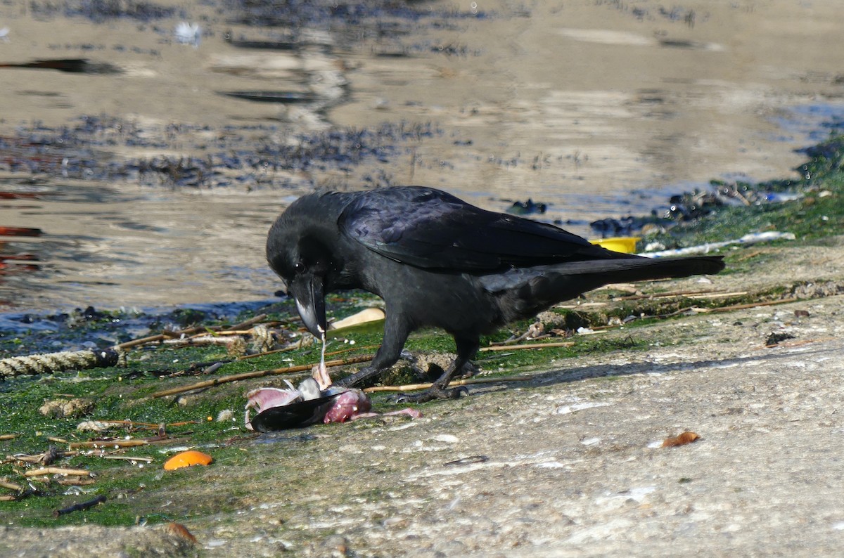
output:
[[[721,207],[707,217],[693,223],[672,228],[667,237],[677,245],[737,238],[744,233],[780,230],[793,232],[794,244],[823,244],[830,236],[844,234],[844,171],[842,149],[844,140],[837,138],[819,146],[813,158],[803,165],[796,180],[784,180],[755,188],[800,191],[803,197],[795,201],[750,207]],[[783,244],[783,243],[780,243]],[[728,252],[728,273],[744,273],[776,257],[778,244],[752,250]],[[785,280],[785,279],[783,279]],[[554,327],[572,335],[578,328],[606,328],[616,324],[603,335],[577,335],[572,346],[546,347],[541,350],[506,350],[479,354],[478,362],[486,373],[502,378],[525,370],[561,366],[566,358],[587,354],[598,355],[619,350],[646,350],[653,344],[679,344],[682,335],[655,334],[647,330],[665,319],[683,320],[692,307],[719,309],[738,304],[777,301],[792,296],[792,283],[750,287],[745,293],[722,298],[688,298],[683,295],[659,298],[660,292],[670,292],[670,283],[654,283],[647,288],[653,296],[625,299],[625,292],[592,292],[582,302],[601,303],[590,309],[554,309]],[[354,314],[378,303],[377,298],[363,292],[333,295],[327,300],[328,311],[335,319]],[[290,330],[298,327],[295,309],[289,301],[274,303],[260,309],[268,320],[279,320]],[[230,323],[251,318],[257,311],[249,311]],[[51,336],[51,343],[78,345],[79,341],[96,341],[98,346],[125,341],[121,320],[126,314],[101,313],[96,319],[78,319],[73,328]],[[220,320],[208,319],[202,313],[184,312],[175,321],[178,325],[222,325]],[[623,324],[623,326],[619,325]],[[151,322],[150,330],[164,327]],[[508,339],[512,333],[527,330],[530,321],[523,321],[484,337],[483,345]],[[0,335],[0,357],[25,354],[41,347],[39,331],[15,332]],[[106,341],[104,341],[106,340]],[[354,344],[352,343],[354,341]],[[327,350],[344,351],[339,357],[371,355],[381,341],[379,332],[356,332],[344,339],[333,340]],[[550,341],[559,341],[559,337]],[[541,341],[536,341],[541,342]],[[414,333],[407,348],[415,353],[444,353],[454,351],[449,335],[439,330]],[[0,496],[14,495],[18,500],[3,502],[0,520],[19,526],[59,526],[79,523],[102,525],[132,525],[164,521],[208,521],[215,514],[248,507],[257,487],[267,486],[268,478],[284,478],[279,487],[279,502],[300,502],[316,490],[318,483],[331,477],[357,486],[354,497],[373,502],[384,499],[384,488],[365,486],[365,480],[376,475],[360,475],[353,461],[333,459],[331,451],[337,447],[339,434],[354,438],[354,429],[373,428],[374,423],[349,425],[320,425],[301,431],[254,437],[243,427],[241,412],[245,394],[258,385],[280,384],[280,377],[257,378],[205,389],[197,393],[152,398],[152,394],[180,385],[193,384],[208,378],[253,372],[296,364],[317,362],[319,347],[302,346],[295,351],[235,361],[219,346],[153,346],[130,351],[127,368],[100,368],[78,372],[54,373],[13,378],[0,384],[0,435],[15,434],[0,440],[0,480],[22,486],[24,491],[0,488]],[[213,362],[225,361],[214,373],[203,373]],[[551,363],[554,364],[551,364]],[[352,372],[354,368],[345,368]],[[180,374],[180,375],[173,375]],[[292,376],[300,378],[304,374]],[[612,378],[609,378],[612,379]],[[405,368],[387,378],[390,383],[415,383],[419,378]],[[93,406],[84,416],[56,418],[39,412],[47,400],[85,399]],[[388,406],[387,396],[376,394],[373,405]],[[423,412],[439,409],[438,402],[420,405]],[[471,398],[458,401],[455,409],[472,405]],[[153,425],[161,423],[180,426],[166,427],[173,443],[126,448],[119,452],[126,457],[151,458],[151,463],[138,460],[108,460],[95,455],[77,454],[59,459],[56,466],[83,468],[95,474],[95,483],[80,487],[78,494],[69,493],[68,486],[56,480],[35,481],[24,477],[24,467],[16,454],[46,452],[51,446],[67,449],[68,444],[89,440],[91,432],[78,432],[80,421],[131,420]],[[339,430],[338,430],[339,429]],[[154,432],[112,432],[116,438],[151,436]],[[57,442],[63,440],[64,442]],[[164,471],[162,464],[175,448],[194,447],[214,457],[208,467],[193,467]],[[297,462],[308,460],[311,472],[306,473]],[[408,456],[408,460],[422,459]],[[408,467],[413,463],[408,461]],[[421,464],[419,464],[421,466]],[[320,480],[322,479],[322,480]],[[363,484],[362,484],[363,483]],[[105,503],[84,512],[73,512],[53,518],[60,507],[83,502],[95,496],[106,496]],[[362,495],[362,496],[361,496]],[[334,502],[337,505],[343,502]]]

